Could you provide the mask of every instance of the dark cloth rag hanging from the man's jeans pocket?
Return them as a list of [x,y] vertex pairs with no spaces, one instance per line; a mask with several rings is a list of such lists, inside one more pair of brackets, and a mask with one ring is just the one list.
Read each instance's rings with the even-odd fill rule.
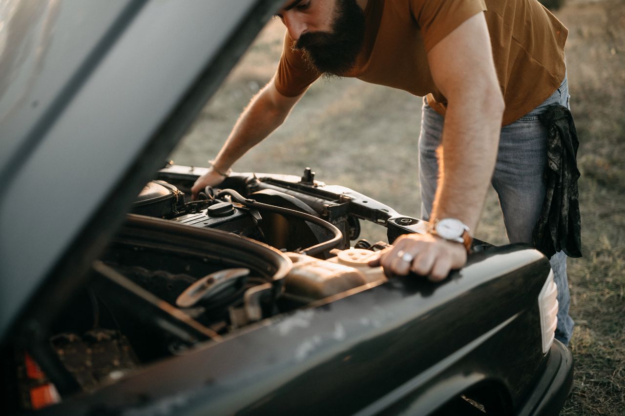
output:
[[569,257],[582,257],[576,161],[579,141],[573,117],[559,104],[547,107],[538,117],[547,129],[547,164],[545,200],[532,234],[534,247],[549,258],[560,250]]

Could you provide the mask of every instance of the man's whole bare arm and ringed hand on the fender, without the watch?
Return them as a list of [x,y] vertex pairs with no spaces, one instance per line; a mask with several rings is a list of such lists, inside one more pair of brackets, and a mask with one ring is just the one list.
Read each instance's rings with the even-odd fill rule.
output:
[[[457,218],[474,230],[494,170],[504,111],[484,15],[462,23],[427,58],[434,82],[447,97],[441,176],[430,220]],[[399,255],[404,253],[414,259],[402,260]],[[462,244],[410,234],[399,237],[371,265],[381,264],[387,274],[405,275],[412,270],[442,280],[449,270],[465,263]]]

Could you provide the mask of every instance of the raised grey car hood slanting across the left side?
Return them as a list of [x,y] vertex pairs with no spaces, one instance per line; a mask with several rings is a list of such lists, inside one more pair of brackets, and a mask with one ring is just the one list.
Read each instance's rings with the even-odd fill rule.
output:
[[0,340],[83,282],[279,3],[0,5]]

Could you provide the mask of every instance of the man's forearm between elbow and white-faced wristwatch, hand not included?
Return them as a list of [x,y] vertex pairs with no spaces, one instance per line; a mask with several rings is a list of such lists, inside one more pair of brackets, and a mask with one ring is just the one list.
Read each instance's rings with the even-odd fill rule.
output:
[[431,219],[457,218],[474,230],[497,158],[501,92],[465,91],[447,107]]

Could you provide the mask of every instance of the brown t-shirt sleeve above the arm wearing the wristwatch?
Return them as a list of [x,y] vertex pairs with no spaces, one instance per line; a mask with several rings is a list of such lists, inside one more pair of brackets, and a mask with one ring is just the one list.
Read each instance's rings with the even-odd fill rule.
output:
[[421,28],[426,51],[460,26],[486,10],[484,0],[409,0],[412,17]]

